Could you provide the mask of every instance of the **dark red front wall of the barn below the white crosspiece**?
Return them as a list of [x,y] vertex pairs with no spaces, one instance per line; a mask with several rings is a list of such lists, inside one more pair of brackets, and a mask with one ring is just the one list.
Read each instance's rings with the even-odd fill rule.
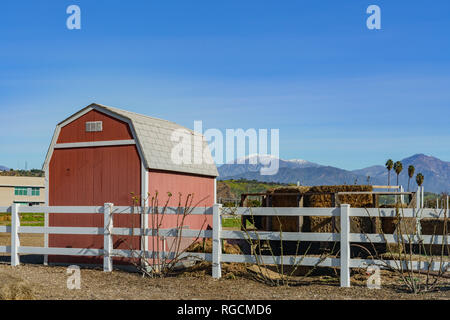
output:
[[[50,162],[50,206],[132,205],[141,193],[141,161],[136,146],[56,149]],[[101,214],[50,214],[51,227],[103,227]],[[140,217],[116,215],[116,227],[140,227]],[[115,248],[139,249],[139,239],[114,236]],[[49,246],[103,248],[103,236],[49,235]],[[49,257],[50,262],[101,263],[99,258]]]

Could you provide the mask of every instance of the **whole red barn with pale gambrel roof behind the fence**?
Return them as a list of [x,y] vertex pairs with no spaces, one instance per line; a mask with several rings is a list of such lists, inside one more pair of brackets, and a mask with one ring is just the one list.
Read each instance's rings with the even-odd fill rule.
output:
[[[183,134],[189,139],[177,138]],[[192,150],[190,159],[193,155],[202,157],[202,163],[176,159],[176,150],[182,148]],[[207,148],[201,134],[173,122],[92,104],[56,127],[44,163],[47,205],[130,206],[131,193],[145,199],[148,194],[154,196],[158,192],[159,204],[163,206],[170,192],[173,196],[169,206],[178,206],[180,193],[183,201],[193,193],[193,206],[210,207],[215,203],[218,172]],[[167,219],[163,227],[174,227],[173,218]],[[205,224],[205,216],[191,216],[186,227],[199,229],[212,225],[211,218],[207,219]],[[103,227],[103,215],[49,214],[46,224]],[[133,219],[131,215],[114,218],[115,227],[139,228],[143,224],[148,227],[138,215]],[[129,249],[129,243],[123,243],[123,239],[114,236],[113,240],[116,249]],[[139,239],[128,240],[139,249]],[[49,247],[103,248],[100,235],[55,234],[49,235],[46,242]],[[51,256],[49,262],[98,264],[101,259]]]

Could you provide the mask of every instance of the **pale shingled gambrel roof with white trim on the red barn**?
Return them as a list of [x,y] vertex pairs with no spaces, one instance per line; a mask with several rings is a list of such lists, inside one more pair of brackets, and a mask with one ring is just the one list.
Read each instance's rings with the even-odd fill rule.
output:
[[[47,168],[50,162],[53,148],[58,139],[59,130],[91,110],[97,110],[108,114],[114,118],[125,121],[130,125],[133,135],[135,136],[136,145],[147,169],[175,171],[212,177],[217,177],[219,175],[211,152],[209,151],[208,143],[202,134],[171,121],[152,118],[96,103],[89,105],[58,124],[44,163],[44,169]],[[172,135],[175,131],[190,136],[190,139],[172,141]],[[200,141],[200,143],[195,143],[195,139],[199,139],[197,141]],[[180,146],[180,144],[185,150],[191,150],[190,163],[179,163],[179,161],[172,160],[172,150],[175,146]],[[206,150],[206,152],[204,150]],[[202,159],[202,163],[194,163],[194,157]]]

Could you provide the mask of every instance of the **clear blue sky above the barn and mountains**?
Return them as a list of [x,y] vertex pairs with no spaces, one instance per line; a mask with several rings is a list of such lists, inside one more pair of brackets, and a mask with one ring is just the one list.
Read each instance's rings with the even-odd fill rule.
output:
[[282,158],[345,169],[450,161],[449,1],[4,0],[0,39],[0,165],[40,168],[91,102],[280,129]]

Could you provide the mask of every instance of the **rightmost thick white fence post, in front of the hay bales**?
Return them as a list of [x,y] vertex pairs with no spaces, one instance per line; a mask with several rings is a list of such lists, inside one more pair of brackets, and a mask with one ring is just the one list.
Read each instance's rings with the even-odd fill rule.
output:
[[350,287],[350,205],[341,204],[341,287]]

